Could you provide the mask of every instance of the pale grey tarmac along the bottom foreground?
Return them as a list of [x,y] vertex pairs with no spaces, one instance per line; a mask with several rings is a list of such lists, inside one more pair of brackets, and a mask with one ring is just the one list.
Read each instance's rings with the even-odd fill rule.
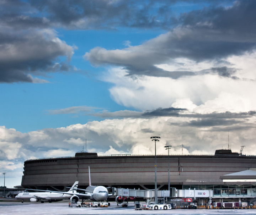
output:
[[134,203],[127,208],[111,202],[107,208],[69,207],[68,202],[0,202],[0,215],[68,215],[68,214],[173,214],[173,215],[255,215],[256,209],[171,209],[171,210],[135,210]]

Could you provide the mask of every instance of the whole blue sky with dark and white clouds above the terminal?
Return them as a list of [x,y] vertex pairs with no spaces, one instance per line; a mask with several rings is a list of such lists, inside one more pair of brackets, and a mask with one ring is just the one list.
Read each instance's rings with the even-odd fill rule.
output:
[[[256,155],[256,1],[0,0],[0,170],[98,155]],[[4,184],[1,174],[0,186]]]

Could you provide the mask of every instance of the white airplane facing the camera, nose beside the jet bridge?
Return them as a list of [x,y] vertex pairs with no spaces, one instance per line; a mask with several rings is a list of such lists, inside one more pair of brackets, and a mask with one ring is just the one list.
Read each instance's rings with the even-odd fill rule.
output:
[[[77,187],[73,188],[75,191],[78,189]],[[31,189],[30,189],[31,190]],[[38,190],[38,189],[32,189],[34,191],[44,191],[44,190]],[[77,203],[79,201],[79,198],[82,200],[84,199],[90,199],[92,201],[104,201],[107,200],[109,195],[108,190],[106,187],[103,186],[93,186],[91,185],[91,174],[90,174],[90,166],[89,166],[89,186],[86,189],[79,189],[82,191],[85,191],[85,193],[78,193],[75,192],[74,195],[70,197],[71,203]],[[62,194],[68,194],[68,192],[59,192],[59,191],[53,191],[54,193],[62,193]]]

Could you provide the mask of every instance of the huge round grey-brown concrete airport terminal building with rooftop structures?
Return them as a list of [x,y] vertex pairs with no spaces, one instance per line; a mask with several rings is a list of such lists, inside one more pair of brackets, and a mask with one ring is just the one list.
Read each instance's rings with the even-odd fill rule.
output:
[[[216,150],[215,155],[157,155],[157,184],[168,189],[212,189],[215,197],[256,197],[256,156]],[[89,185],[129,189],[154,189],[155,155],[97,155],[80,152],[73,157],[27,160],[24,188],[64,191],[79,181]]]

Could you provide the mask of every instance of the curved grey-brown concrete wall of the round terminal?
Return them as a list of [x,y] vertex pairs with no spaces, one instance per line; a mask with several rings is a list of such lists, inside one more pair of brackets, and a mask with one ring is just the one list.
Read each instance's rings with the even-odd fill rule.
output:
[[[169,160],[170,184],[174,187],[224,184],[220,176],[256,167],[256,156],[170,155]],[[28,160],[24,163],[21,185],[62,189],[60,186],[71,186],[79,181],[80,187],[86,187],[89,185],[88,166],[94,185],[151,188],[155,183],[154,155],[120,155]],[[157,182],[159,186],[168,184],[168,155],[157,156]]]

